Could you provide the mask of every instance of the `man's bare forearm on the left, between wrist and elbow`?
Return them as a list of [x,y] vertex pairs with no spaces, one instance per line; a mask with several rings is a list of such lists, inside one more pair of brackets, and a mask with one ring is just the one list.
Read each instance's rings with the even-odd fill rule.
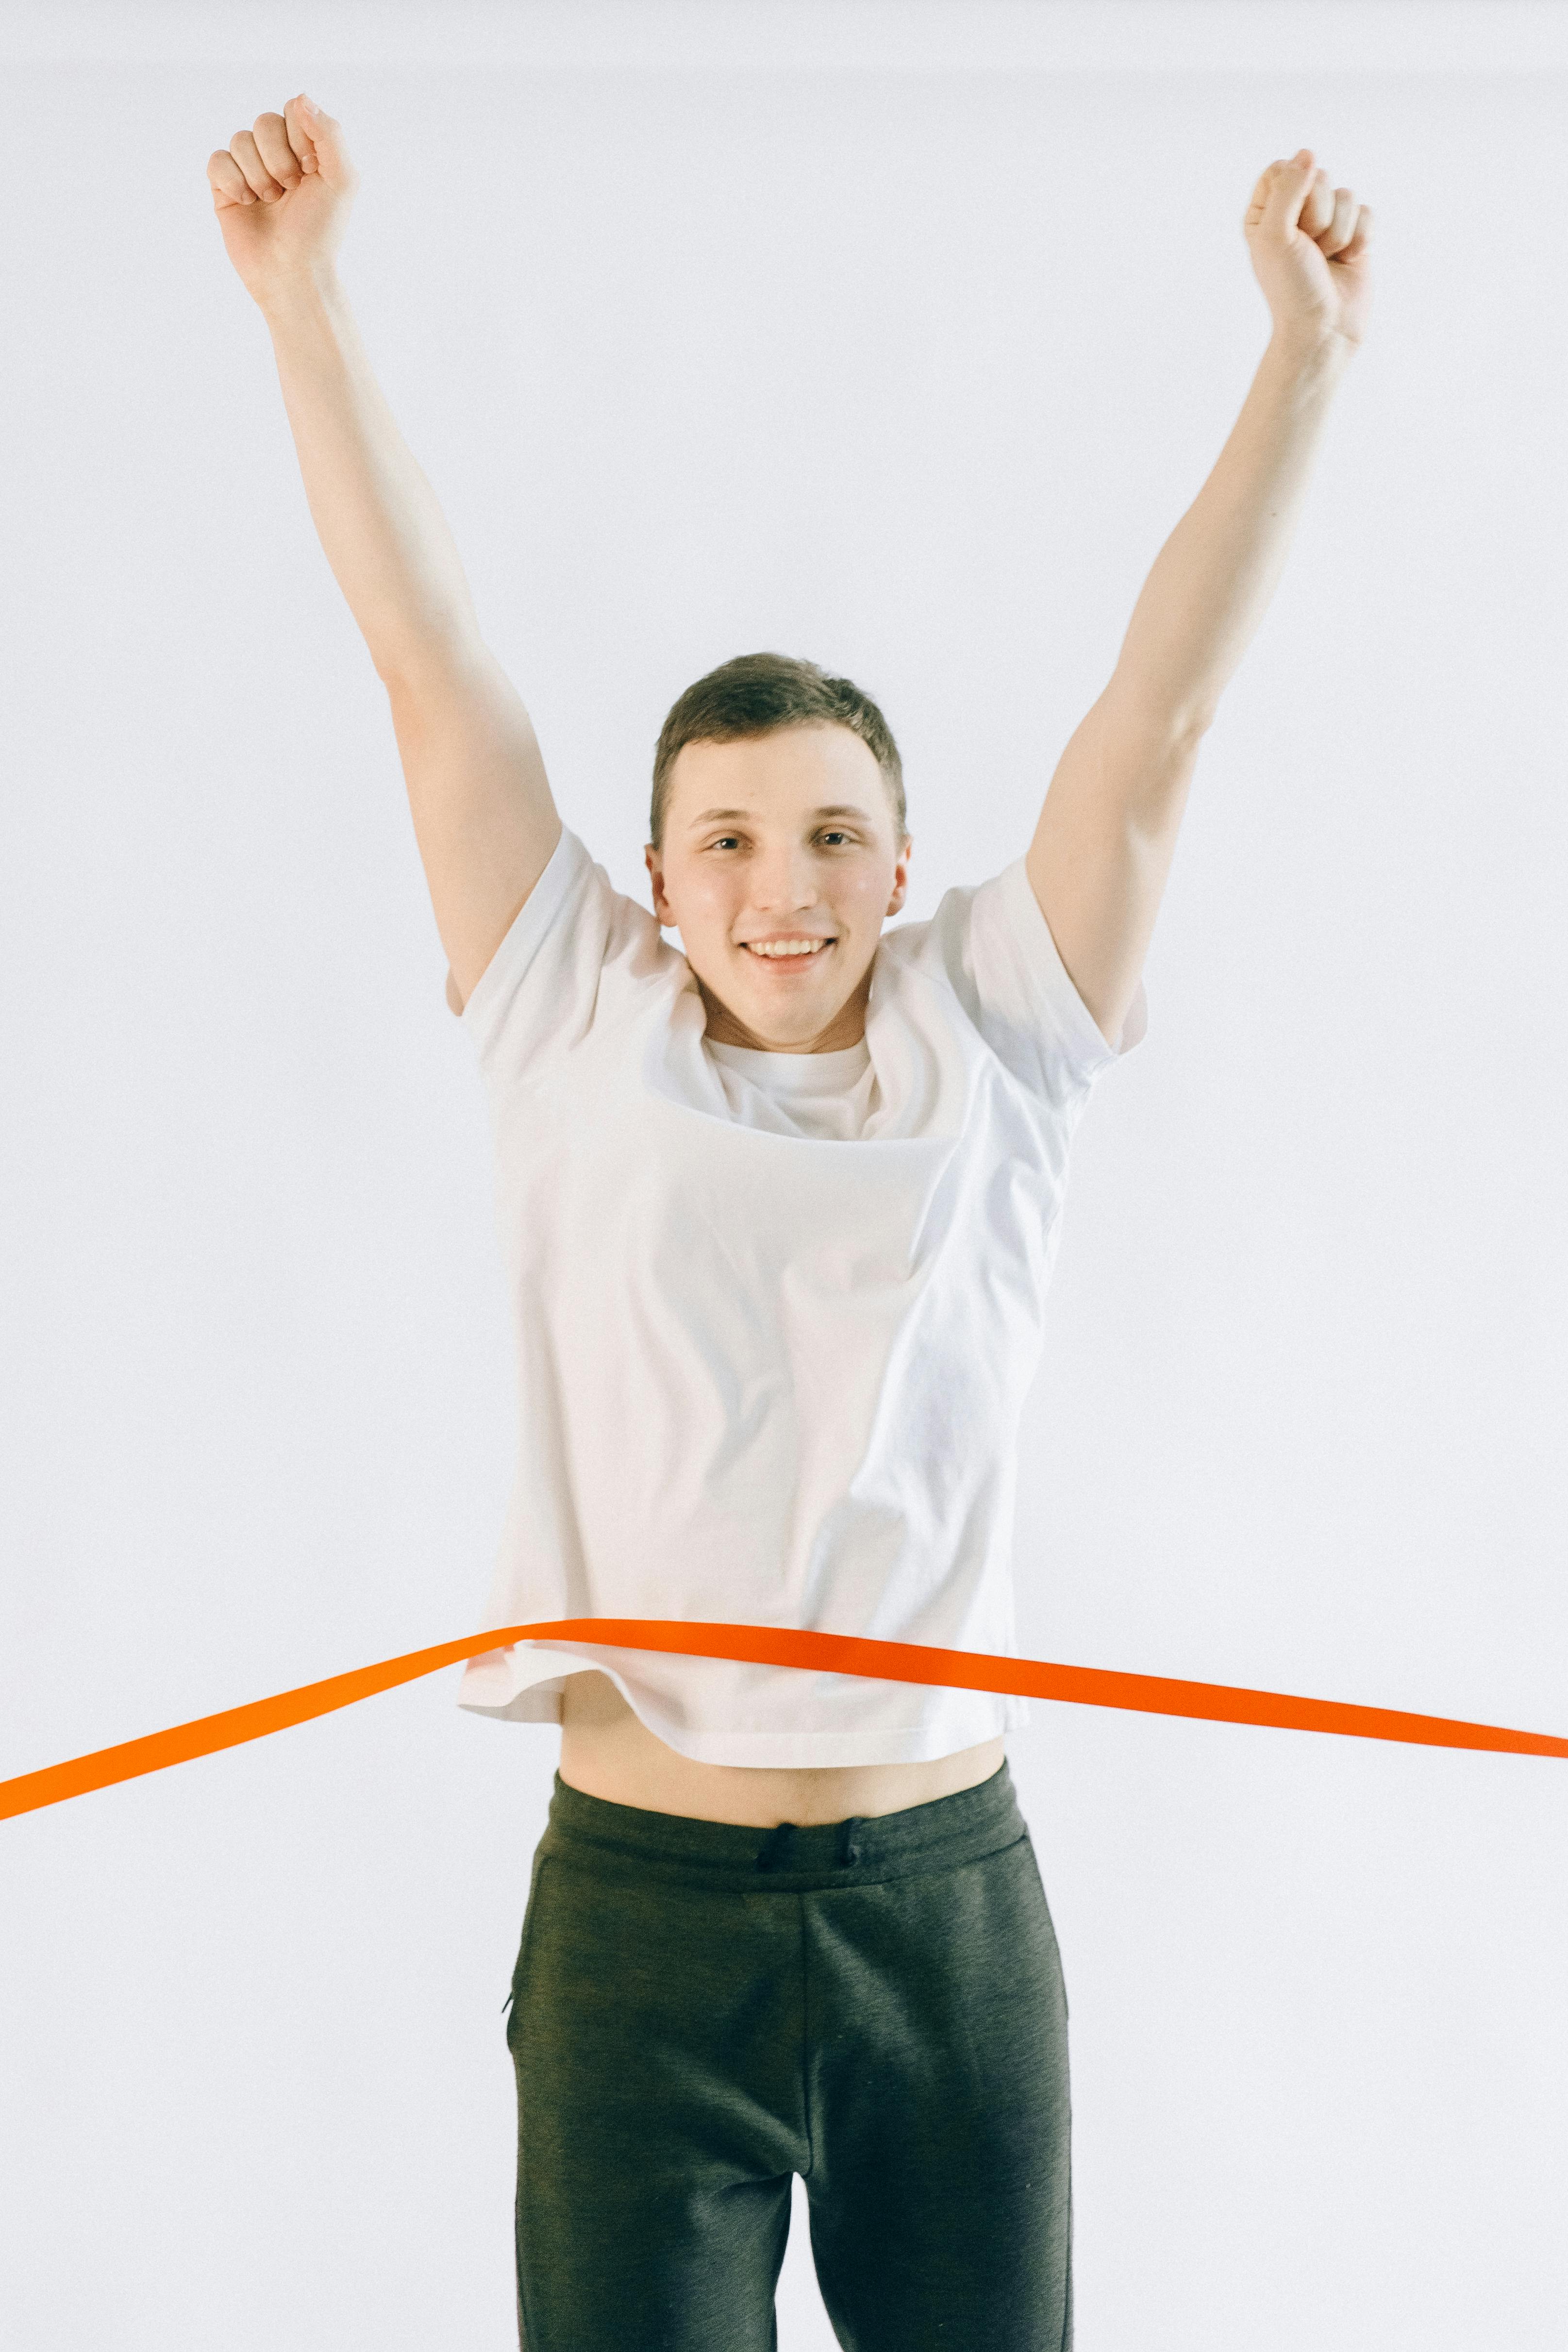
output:
[[430,482],[381,395],[334,273],[263,303],[310,517],[376,670],[480,637],[468,579]]

